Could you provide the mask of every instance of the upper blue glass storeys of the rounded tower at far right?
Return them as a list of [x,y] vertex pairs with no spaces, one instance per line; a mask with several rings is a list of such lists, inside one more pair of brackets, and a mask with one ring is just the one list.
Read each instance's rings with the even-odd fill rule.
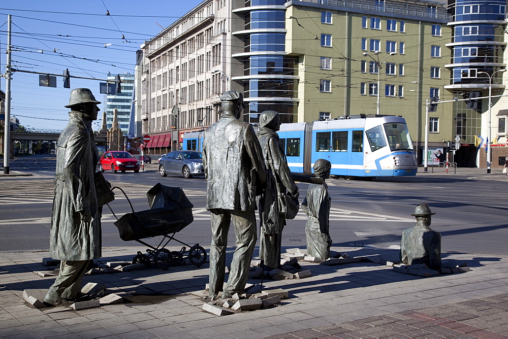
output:
[[452,63],[457,64],[451,69],[452,85],[486,84],[490,80],[481,72],[492,75],[503,68],[495,63],[503,63],[505,10],[506,2],[500,0],[455,1],[452,42],[458,45],[452,47]]

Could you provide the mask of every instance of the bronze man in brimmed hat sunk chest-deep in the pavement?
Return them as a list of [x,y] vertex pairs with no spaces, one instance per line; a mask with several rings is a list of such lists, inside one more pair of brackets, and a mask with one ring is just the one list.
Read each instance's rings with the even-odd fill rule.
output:
[[402,231],[400,261],[406,265],[426,264],[431,269],[441,268],[441,233],[430,228],[432,215],[428,204],[418,204],[416,224]]

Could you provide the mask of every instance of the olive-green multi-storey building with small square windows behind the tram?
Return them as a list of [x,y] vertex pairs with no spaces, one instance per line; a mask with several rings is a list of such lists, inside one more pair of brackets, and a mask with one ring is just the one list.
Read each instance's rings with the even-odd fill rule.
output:
[[[422,159],[426,101],[452,100],[451,28],[434,1],[290,1],[286,52],[298,57],[297,120],[405,118]],[[452,105],[429,113],[429,147],[454,140]]]

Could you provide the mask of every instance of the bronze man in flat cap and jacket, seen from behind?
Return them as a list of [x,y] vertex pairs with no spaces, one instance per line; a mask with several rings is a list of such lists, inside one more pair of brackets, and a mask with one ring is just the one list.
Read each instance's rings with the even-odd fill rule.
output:
[[210,211],[209,297],[223,291],[228,232],[233,221],[236,250],[222,298],[242,293],[256,245],[256,196],[264,190],[266,167],[256,133],[239,120],[243,95],[228,91],[220,96],[223,115],[205,130],[203,166],[207,179],[206,209]]

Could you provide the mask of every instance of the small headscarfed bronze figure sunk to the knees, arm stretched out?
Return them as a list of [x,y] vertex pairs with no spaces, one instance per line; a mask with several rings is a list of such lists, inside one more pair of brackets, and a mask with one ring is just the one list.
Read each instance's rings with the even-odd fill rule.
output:
[[323,179],[323,184],[310,184],[307,196],[302,202],[303,211],[309,216],[305,224],[307,252],[310,256],[326,260],[330,258],[330,195],[325,179],[330,177],[332,164],[325,159],[317,159],[313,165],[314,176]]

